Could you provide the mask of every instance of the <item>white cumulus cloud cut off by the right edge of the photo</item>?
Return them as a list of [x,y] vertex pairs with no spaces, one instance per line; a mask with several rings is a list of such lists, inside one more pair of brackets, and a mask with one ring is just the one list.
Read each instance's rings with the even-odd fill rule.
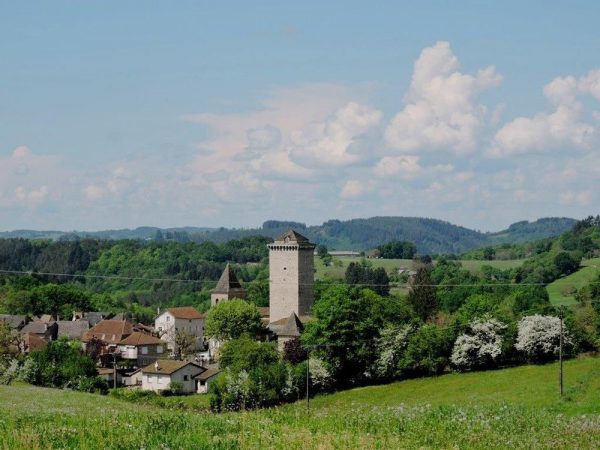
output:
[[579,79],[574,76],[553,79],[544,86],[544,96],[554,110],[508,122],[496,132],[487,153],[510,156],[566,146],[590,148],[597,130],[582,119],[584,108],[578,97],[585,94],[600,99],[600,71]]

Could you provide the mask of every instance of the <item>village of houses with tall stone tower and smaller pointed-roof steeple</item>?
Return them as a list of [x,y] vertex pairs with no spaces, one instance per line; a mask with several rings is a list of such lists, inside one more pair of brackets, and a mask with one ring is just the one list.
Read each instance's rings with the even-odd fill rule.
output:
[[[298,339],[314,300],[315,245],[290,230],[269,249],[269,307],[258,308],[266,334],[260,338]],[[211,293],[211,305],[245,300],[246,290],[227,264]],[[204,333],[205,315],[192,306],[158,311],[153,324],[133,323],[123,314],[74,311],[70,319],[44,314],[0,314],[0,323],[18,337],[21,353],[43,349],[59,338],[80,341],[98,360],[98,375],[111,388],[206,394],[219,374],[221,342]],[[175,389],[176,387],[176,389]]]

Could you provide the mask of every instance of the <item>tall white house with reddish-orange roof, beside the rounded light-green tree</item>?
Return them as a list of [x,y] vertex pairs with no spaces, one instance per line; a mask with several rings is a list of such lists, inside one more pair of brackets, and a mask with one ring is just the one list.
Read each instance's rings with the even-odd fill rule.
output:
[[201,350],[204,347],[204,316],[193,306],[165,310],[155,319],[154,329],[173,352],[178,350],[175,343],[178,333],[189,333],[194,336],[192,350]]

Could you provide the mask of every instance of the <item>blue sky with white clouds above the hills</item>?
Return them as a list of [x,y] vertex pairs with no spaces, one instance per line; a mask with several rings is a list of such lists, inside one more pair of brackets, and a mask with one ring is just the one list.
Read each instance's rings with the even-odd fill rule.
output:
[[598,214],[598,17],[0,0],[0,230]]

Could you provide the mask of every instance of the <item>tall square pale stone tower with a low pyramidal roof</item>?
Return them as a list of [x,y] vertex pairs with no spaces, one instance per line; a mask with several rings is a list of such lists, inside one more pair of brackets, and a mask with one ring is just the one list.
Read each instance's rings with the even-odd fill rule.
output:
[[314,300],[315,245],[290,230],[269,247],[269,321],[306,316]]

